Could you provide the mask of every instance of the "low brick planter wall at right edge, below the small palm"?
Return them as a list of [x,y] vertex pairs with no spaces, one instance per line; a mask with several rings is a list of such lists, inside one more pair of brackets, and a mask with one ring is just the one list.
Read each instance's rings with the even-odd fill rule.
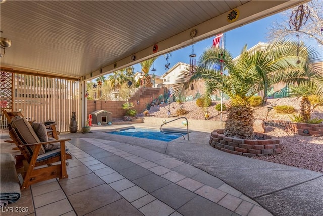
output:
[[323,136],[323,124],[289,123],[285,129],[302,136]]

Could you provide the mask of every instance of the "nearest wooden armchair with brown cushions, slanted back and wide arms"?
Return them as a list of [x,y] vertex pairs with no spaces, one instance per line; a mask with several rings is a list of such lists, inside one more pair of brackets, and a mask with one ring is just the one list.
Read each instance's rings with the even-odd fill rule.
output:
[[[24,118],[15,119],[11,122],[9,125],[9,135],[22,152],[21,155],[15,156],[21,190],[28,188],[34,183],[48,179],[68,178],[66,160],[71,159],[72,156],[67,152],[68,149],[65,148],[65,141],[71,139],[40,142],[31,125]],[[59,148],[51,151],[45,150],[44,145],[58,142]]]

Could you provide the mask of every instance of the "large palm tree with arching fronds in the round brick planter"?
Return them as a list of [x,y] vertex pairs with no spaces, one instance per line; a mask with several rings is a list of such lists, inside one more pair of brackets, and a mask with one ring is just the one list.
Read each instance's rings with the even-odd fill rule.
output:
[[[247,51],[233,61],[231,54],[222,48],[209,48],[200,57],[196,73],[182,72],[174,87],[176,95],[189,90],[198,79],[205,81],[205,103],[210,96],[220,90],[230,97],[230,107],[224,135],[242,139],[253,139],[253,110],[248,99],[273,84],[316,83],[316,92],[323,92],[323,78],[319,75],[321,67],[312,64],[320,54],[312,48],[300,47],[296,56],[297,44],[292,41],[276,41],[267,47]],[[222,58],[219,58],[222,56]],[[223,58],[225,57],[225,58]],[[300,63],[297,64],[297,60]],[[225,73],[215,65],[223,65]],[[220,67],[221,68],[221,67]],[[184,83],[180,80],[185,79]],[[323,95],[323,94],[322,94]]]

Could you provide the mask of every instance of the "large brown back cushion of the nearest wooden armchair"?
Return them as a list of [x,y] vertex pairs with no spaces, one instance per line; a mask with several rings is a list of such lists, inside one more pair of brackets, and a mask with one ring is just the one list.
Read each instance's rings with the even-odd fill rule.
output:
[[[37,134],[35,133],[34,129],[26,119],[24,118],[16,119],[11,122],[11,126],[16,129],[16,132],[18,133],[20,139],[25,144],[40,143],[40,140]],[[34,151],[35,147],[33,146],[31,148]],[[39,155],[44,153],[45,153],[45,149],[43,146],[41,146]]]

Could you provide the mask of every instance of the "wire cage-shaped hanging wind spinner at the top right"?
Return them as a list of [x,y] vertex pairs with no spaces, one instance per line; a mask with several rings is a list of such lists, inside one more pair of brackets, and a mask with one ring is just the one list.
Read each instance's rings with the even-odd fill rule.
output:
[[[307,6],[299,5],[298,1],[298,8],[296,10],[292,11],[290,21],[288,23],[289,27],[291,30],[299,31],[299,29],[305,25],[308,16],[310,14],[310,10],[308,9]],[[297,37],[297,58],[298,60],[296,61],[296,64],[301,63],[299,60],[298,54],[299,54],[299,35],[296,34]]]

